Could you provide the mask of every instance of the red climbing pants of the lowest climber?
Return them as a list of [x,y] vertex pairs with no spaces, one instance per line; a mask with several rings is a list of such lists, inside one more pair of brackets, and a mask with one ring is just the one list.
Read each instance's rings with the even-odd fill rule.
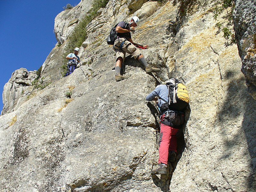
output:
[[175,151],[177,153],[177,137],[176,133],[179,129],[175,129],[169,125],[160,124],[159,134],[159,163],[167,164],[169,151]]

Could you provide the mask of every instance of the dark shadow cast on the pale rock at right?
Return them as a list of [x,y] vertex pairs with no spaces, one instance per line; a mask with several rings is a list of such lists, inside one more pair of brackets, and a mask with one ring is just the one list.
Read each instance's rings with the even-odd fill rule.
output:
[[[220,111],[218,113],[217,122],[219,124],[225,124],[227,122],[238,121],[237,117],[243,115],[242,130],[234,130],[237,132],[233,135],[232,138],[228,138],[227,134],[228,127],[224,127],[221,131],[223,135],[223,141],[225,144],[226,150],[222,152],[220,159],[229,158],[233,152],[239,150],[239,146],[243,143],[243,133],[246,137],[248,152],[250,154],[250,166],[251,170],[248,173],[247,184],[245,186],[249,188],[255,187],[255,175],[256,175],[256,118],[255,118],[255,108],[256,100],[248,94],[247,89],[245,88],[244,77],[235,79],[233,72],[228,71],[225,74],[224,79],[229,81],[228,83],[228,93],[223,104],[221,104]],[[245,151],[246,153],[246,151]]]

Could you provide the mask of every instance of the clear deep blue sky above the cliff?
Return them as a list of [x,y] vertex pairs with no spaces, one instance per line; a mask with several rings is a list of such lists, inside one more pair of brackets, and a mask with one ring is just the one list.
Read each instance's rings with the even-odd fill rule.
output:
[[0,110],[4,84],[19,68],[37,70],[57,43],[54,19],[67,4],[81,0],[1,0]]

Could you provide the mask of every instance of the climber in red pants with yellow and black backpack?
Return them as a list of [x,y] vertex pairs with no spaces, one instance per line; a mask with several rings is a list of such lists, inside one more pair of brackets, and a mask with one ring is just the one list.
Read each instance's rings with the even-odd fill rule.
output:
[[160,109],[159,168],[152,174],[166,174],[168,162],[174,162],[177,154],[176,133],[185,123],[184,111],[189,108],[187,88],[178,79],[172,78],[157,85],[146,97],[147,101],[156,100]]

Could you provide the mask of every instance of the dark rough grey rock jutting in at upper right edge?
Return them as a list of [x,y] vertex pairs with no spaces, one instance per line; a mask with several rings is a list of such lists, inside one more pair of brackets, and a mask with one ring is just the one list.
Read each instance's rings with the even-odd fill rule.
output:
[[255,1],[236,1],[233,13],[234,29],[242,68],[250,95],[256,99],[256,4]]

